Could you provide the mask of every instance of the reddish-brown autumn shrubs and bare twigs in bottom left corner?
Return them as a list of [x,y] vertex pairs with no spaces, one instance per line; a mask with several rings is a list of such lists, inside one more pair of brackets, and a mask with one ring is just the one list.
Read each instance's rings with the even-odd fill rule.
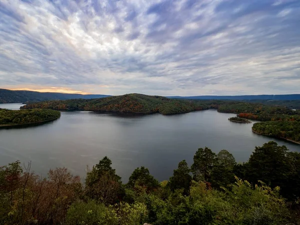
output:
[[81,191],[79,177],[66,168],[41,178],[18,161],[0,168],[0,184],[0,224],[57,224]]

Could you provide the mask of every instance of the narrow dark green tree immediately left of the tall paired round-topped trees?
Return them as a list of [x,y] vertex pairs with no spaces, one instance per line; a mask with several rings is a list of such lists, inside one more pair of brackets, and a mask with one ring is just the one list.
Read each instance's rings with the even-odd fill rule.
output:
[[178,169],[174,169],[173,176],[170,177],[169,185],[170,189],[183,189],[183,194],[187,195],[191,184],[191,176],[189,175],[190,169],[187,166],[185,160],[178,163]]

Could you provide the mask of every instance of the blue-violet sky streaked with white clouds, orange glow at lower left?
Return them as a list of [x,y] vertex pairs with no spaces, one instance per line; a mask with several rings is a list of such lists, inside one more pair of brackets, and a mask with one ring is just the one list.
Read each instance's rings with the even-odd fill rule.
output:
[[300,94],[300,0],[0,0],[0,88]]

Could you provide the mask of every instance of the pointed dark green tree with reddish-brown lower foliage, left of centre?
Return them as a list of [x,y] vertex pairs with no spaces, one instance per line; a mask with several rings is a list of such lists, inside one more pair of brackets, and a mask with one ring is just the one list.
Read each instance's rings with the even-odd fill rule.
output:
[[87,172],[85,190],[87,196],[105,204],[114,204],[123,197],[121,177],[115,174],[107,156]]

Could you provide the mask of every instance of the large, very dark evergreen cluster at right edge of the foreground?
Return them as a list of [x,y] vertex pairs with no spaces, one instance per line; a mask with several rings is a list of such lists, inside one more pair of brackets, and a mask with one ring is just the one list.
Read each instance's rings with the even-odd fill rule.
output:
[[279,186],[280,193],[289,199],[300,196],[300,153],[288,152],[283,146],[270,141],[261,147],[255,147],[247,163],[244,164],[245,178],[257,183],[265,182],[271,187]]

